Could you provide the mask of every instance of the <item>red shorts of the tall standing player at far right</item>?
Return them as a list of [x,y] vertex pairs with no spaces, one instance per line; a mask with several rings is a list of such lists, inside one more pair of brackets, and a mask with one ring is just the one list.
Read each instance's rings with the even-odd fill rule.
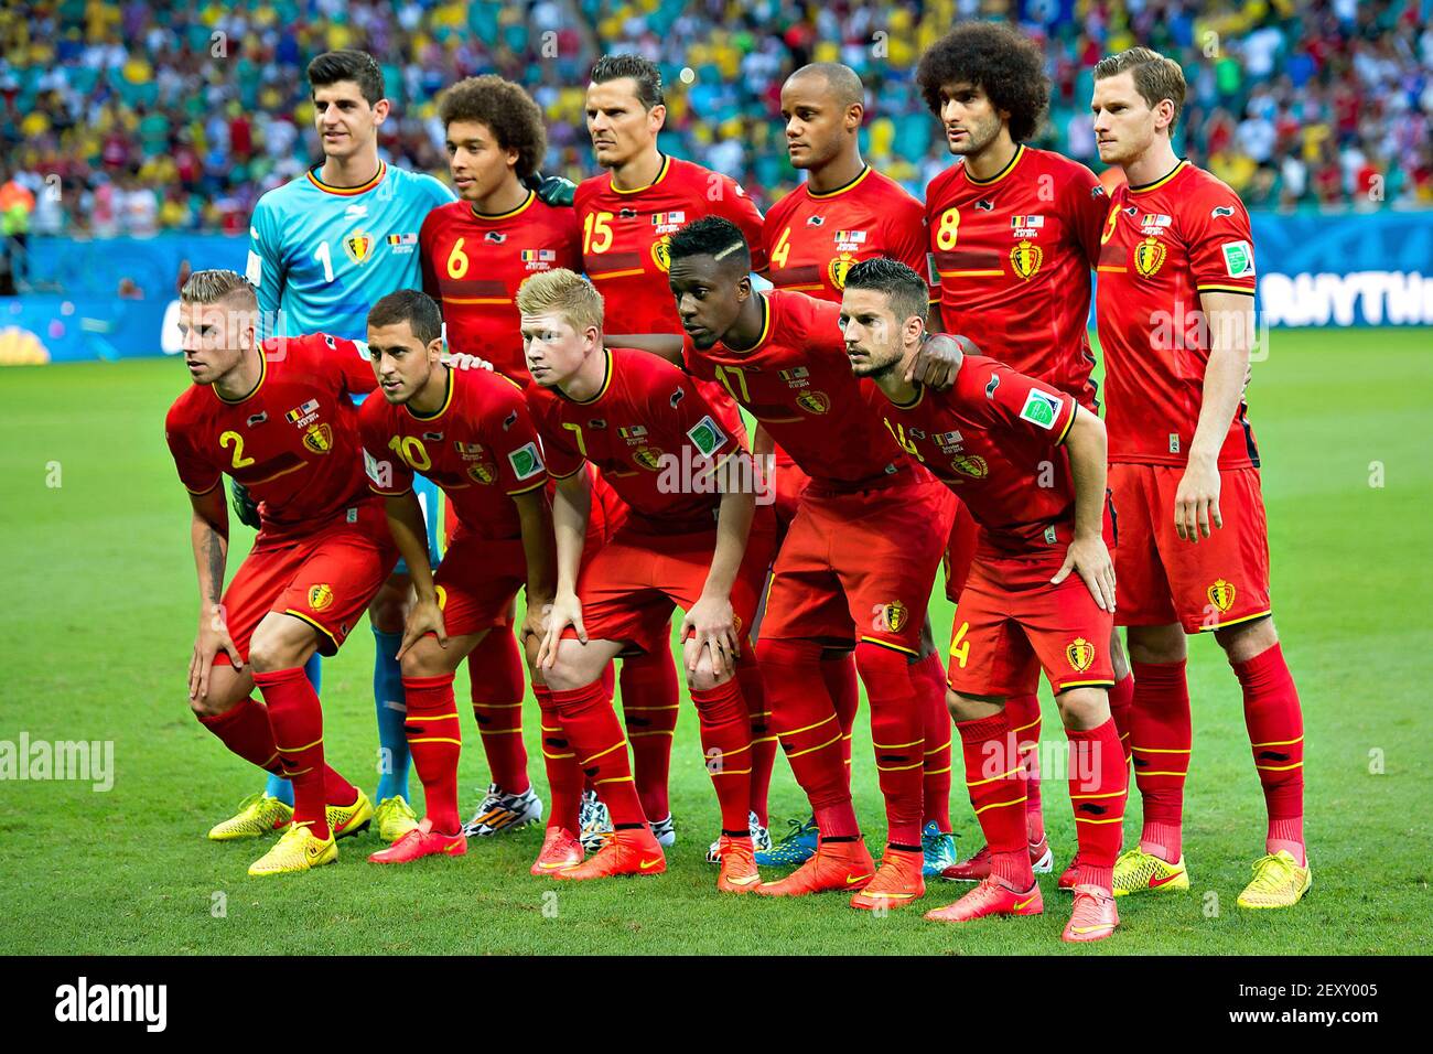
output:
[[1119,625],[1221,630],[1270,614],[1268,523],[1258,469],[1219,469],[1222,528],[1185,542],[1174,531],[1174,498],[1184,469],[1111,465],[1119,523],[1115,552]]

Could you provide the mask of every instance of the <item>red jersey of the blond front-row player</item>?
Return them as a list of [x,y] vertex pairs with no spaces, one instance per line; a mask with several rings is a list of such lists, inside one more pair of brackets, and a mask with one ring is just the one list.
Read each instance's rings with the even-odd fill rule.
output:
[[705,462],[735,452],[696,384],[671,363],[622,347],[606,350],[608,377],[586,402],[527,386],[527,406],[557,479],[592,462],[648,529],[698,531],[716,523],[721,495],[699,492]]

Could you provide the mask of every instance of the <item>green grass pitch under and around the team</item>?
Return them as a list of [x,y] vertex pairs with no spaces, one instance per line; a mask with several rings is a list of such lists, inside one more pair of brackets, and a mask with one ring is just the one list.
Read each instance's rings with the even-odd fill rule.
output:
[[[920,911],[874,918],[837,895],[724,898],[704,863],[716,829],[696,718],[685,710],[672,766],[671,870],[580,888],[532,878],[540,833],[474,843],[461,860],[380,869],[374,833],[337,866],[249,879],[257,842],[205,830],[261,786],[191,717],[185,667],[195,581],[188,502],[163,445],[181,363],[142,360],[0,371],[0,740],[112,740],[115,783],[0,783],[0,952],[686,952],[686,954],[1369,954],[1427,948],[1427,455],[1433,357],[1426,330],[1275,331],[1255,366],[1251,417],[1264,456],[1275,614],[1307,720],[1307,833],[1314,888],[1287,912],[1234,898],[1262,852],[1262,797],[1238,685],[1212,640],[1191,645],[1194,769],[1188,895],[1122,899],[1101,945],[1059,942],[1066,903],[1042,880],[1042,918],[954,929]],[[248,548],[239,528],[229,571]],[[950,609],[933,607],[937,638]],[[332,761],[371,792],[373,645],[354,634],[325,665]],[[459,685],[463,680],[460,674]],[[1042,685],[1043,687],[1043,685]],[[460,707],[461,710],[461,707]],[[864,723],[864,708],[863,718]],[[532,701],[527,728],[537,726]],[[476,730],[463,807],[486,784]],[[1045,739],[1059,739],[1046,704]],[[532,746],[535,736],[529,734]],[[959,757],[959,753],[957,753]],[[857,726],[857,807],[878,853],[884,820]],[[804,813],[778,759],[774,827]],[[540,790],[540,757],[533,759]],[[953,802],[962,849],[979,845]],[[414,779],[417,790],[417,780]],[[1065,787],[1046,784],[1058,863],[1070,850]],[[1126,837],[1136,832],[1132,794]],[[780,833],[775,832],[775,833]],[[926,906],[960,886],[934,883]],[[222,906],[222,909],[221,909]]]

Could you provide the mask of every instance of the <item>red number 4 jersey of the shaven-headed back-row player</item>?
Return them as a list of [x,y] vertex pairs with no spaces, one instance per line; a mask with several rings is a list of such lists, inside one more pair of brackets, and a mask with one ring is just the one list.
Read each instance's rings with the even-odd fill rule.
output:
[[924,206],[870,166],[837,191],[815,194],[802,184],[784,196],[767,212],[762,247],[772,285],[831,303],[841,301],[851,265],[871,257],[930,277]]

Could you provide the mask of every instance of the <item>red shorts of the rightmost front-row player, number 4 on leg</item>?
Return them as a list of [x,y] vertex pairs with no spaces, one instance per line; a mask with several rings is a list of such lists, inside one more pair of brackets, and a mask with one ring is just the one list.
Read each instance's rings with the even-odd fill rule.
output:
[[950,635],[946,684],[962,695],[1030,695],[1040,668],[1059,695],[1108,688],[1113,615],[1076,574],[1050,585],[1065,554],[1035,559],[979,554],[970,564]]

